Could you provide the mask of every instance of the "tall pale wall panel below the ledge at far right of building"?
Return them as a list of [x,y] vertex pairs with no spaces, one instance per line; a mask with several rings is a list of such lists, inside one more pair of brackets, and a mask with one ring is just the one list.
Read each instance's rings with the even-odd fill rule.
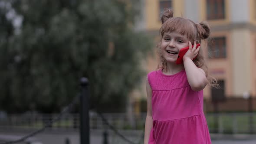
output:
[[232,79],[233,94],[243,95],[244,92],[252,90],[251,81],[251,61],[250,61],[250,32],[249,29],[234,29],[232,37]]

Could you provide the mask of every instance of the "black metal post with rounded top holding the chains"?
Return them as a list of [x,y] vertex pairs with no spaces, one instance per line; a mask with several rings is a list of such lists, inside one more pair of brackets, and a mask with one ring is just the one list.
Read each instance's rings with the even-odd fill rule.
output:
[[80,144],[90,144],[88,83],[88,79],[80,79]]

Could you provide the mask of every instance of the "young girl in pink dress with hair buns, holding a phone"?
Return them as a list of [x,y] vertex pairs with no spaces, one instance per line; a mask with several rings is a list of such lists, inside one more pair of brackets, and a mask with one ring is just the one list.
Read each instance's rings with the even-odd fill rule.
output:
[[[166,10],[161,20],[161,63],[159,70],[148,74],[146,83],[144,144],[211,144],[203,88],[214,81],[208,78],[200,46],[196,49],[197,43],[208,38],[210,28],[204,22],[173,17],[172,10]],[[179,51],[187,46],[183,63],[177,65]]]

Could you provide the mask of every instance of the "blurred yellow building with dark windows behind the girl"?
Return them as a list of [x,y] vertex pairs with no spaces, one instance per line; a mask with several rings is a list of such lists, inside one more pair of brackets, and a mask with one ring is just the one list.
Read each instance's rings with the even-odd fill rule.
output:
[[[222,89],[207,86],[206,100],[212,95],[243,97],[246,92],[256,96],[256,0],[143,0],[140,29],[155,37],[155,45],[160,40],[164,8],[173,9],[174,16],[210,24],[213,43],[205,51],[210,53],[206,56],[208,72]],[[147,71],[156,70],[158,62],[158,56],[149,58],[144,63]],[[145,98],[145,89],[137,96]]]

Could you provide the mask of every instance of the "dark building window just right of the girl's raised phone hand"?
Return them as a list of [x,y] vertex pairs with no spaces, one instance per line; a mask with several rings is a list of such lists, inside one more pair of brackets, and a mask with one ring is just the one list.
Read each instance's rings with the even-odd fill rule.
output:
[[209,45],[209,58],[226,58],[226,37],[214,37]]

